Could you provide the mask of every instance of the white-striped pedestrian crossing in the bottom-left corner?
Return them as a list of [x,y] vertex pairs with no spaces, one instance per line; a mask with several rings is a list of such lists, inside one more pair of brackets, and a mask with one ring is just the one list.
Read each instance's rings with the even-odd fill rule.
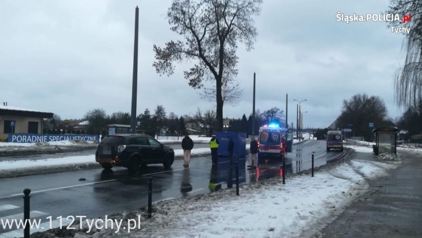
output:
[[[30,234],[44,232],[51,228],[65,227],[70,224],[70,220],[48,218],[51,216],[47,212],[31,210],[29,212],[30,221],[34,226],[30,228]],[[0,238],[21,238],[24,235],[23,207],[13,204],[0,204]],[[32,221],[35,221],[34,223]],[[17,223],[17,224],[16,224]],[[19,226],[19,227],[18,227]]]

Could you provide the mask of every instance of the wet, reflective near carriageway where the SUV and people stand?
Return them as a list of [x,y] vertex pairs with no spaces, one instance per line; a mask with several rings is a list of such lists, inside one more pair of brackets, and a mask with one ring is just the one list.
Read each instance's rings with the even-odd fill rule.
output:
[[[315,152],[315,166],[339,157],[340,151],[325,150],[325,141],[307,141],[293,146],[286,156],[286,171],[297,173],[311,168],[311,155]],[[259,165],[259,176],[247,170],[245,159],[238,159],[240,183],[251,183],[280,176],[280,160],[263,159]],[[0,179],[0,219],[10,218],[23,212],[22,190],[31,192],[31,211],[44,219],[53,216],[87,216],[97,218],[122,210],[136,209],[148,202],[148,177],[153,178],[153,202],[193,196],[210,192],[210,183],[221,189],[235,187],[235,171],[228,168],[228,158],[220,157],[216,169],[211,169],[211,156],[192,158],[190,168],[183,168],[182,160],[175,160],[169,170],[162,165],[149,165],[138,174],[130,174],[125,168],[111,171],[93,169],[56,174]],[[85,181],[78,181],[85,178]],[[190,186],[182,185],[190,184]],[[1,209],[13,207],[12,209]],[[23,215],[21,215],[23,216]],[[35,217],[31,217],[35,218]],[[13,229],[12,229],[13,230]],[[0,231],[7,237],[9,230]],[[2,234],[4,233],[4,234]]]

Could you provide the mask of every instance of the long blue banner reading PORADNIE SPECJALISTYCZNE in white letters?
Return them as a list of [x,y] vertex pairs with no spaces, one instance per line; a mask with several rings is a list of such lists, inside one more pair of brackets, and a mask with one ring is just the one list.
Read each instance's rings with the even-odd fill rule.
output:
[[31,134],[31,133],[16,133],[8,134],[8,142],[15,143],[38,143],[38,142],[59,142],[59,141],[100,141],[99,135],[46,135],[46,134]]

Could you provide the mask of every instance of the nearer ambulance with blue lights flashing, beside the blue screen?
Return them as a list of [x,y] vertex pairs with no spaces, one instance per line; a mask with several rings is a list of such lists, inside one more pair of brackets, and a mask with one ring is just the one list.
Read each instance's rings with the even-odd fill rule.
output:
[[258,158],[277,157],[282,159],[286,154],[285,133],[287,128],[277,124],[260,127],[258,138]]

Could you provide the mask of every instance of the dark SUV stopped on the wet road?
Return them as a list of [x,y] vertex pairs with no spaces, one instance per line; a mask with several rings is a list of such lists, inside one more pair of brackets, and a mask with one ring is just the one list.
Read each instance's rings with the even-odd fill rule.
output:
[[147,164],[162,163],[165,168],[170,168],[174,150],[144,134],[109,135],[98,145],[95,161],[105,169],[123,166],[132,172]]

